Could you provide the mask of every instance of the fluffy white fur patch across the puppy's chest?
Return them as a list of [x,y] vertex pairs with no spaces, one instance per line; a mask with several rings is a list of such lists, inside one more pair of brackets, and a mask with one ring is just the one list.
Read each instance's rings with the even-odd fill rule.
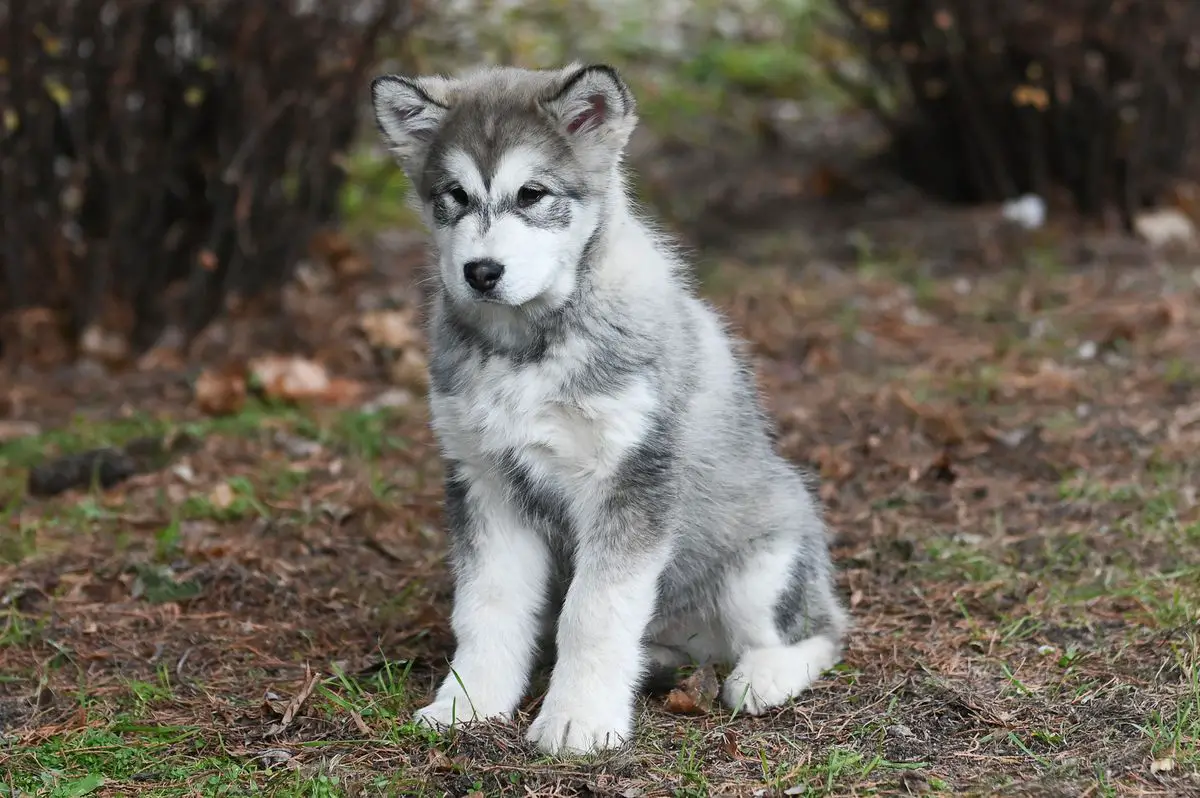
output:
[[605,476],[646,434],[655,395],[632,380],[610,391],[572,395],[562,372],[494,364],[463,390],[433,401],[449,457],[479,468],[511,458],[557,478]]

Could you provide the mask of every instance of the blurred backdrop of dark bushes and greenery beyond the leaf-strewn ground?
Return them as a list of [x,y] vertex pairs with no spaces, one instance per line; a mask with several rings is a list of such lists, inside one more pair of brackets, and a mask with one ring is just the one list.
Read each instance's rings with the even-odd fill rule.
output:
[[1200,52],[1187,2],[72,0],[0,13],[6,362],[182,346],[230,302],[270,300],[314,238],[359,246],[410,227],[364,104],[379,71],[610,61],[641,98],[632,160],[654,211],[704,248],[792,235],[797,265],[845,259],[860,224],[911,228],[918,214],[936,218],[908,238],[942,239],[947,203],[1126,233],[1190,209]]

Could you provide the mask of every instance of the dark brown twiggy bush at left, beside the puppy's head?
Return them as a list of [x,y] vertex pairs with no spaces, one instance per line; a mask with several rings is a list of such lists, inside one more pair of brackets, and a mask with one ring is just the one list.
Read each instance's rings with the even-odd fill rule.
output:
[[18,308],[139,350],[277,287],[415,5],[0,1],[0,349]]

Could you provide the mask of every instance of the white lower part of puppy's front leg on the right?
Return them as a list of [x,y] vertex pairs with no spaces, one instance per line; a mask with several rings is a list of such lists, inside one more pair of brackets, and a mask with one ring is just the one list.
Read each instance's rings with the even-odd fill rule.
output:
[[550,754],[592,754],[632,736],[643,635],[666,553],[601,548],[593,544],[578,552],[558,620],[558,661],[529,728],[528,738]]

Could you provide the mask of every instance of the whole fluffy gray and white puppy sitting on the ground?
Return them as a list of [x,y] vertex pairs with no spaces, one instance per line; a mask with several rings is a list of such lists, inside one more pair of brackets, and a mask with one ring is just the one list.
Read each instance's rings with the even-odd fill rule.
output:
[[752,371],[626,197],[635,101],[608,66],[372,82],[428,226],[430,403],[457,650],[436,726],[511,718],[557,616],[528,738],[630,738],[650,664],[736,665],[762,713],[841,656],[821,509]]

